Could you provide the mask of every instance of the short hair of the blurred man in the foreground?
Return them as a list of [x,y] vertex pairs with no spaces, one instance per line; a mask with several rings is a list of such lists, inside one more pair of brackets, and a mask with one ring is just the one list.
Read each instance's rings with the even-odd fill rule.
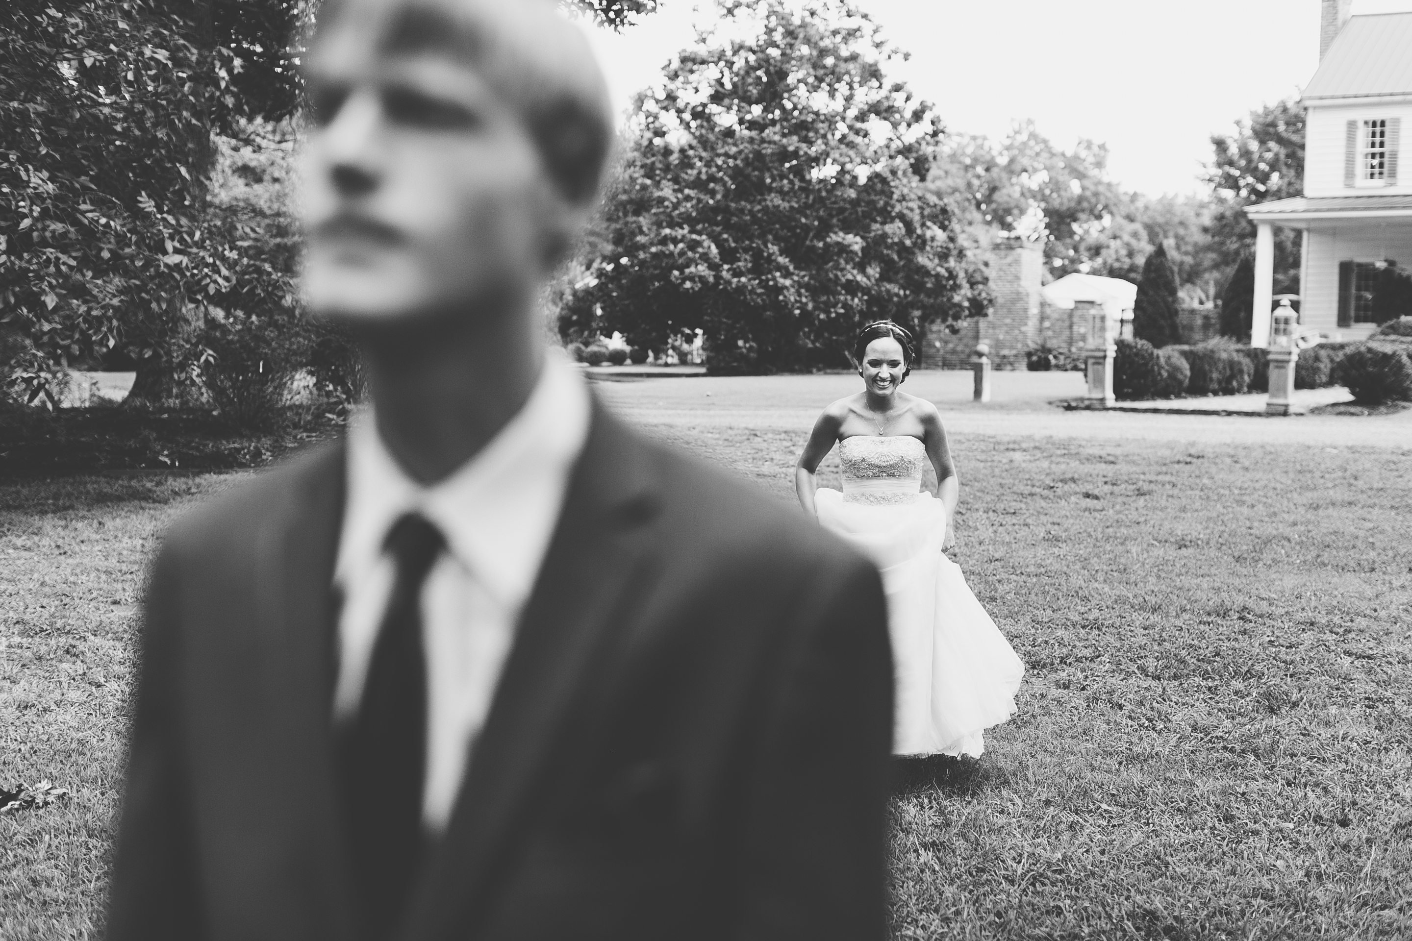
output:
[[[326,0],[313,44],[354,6],[357,0]],[[576,27],[548,3],[528,0],[385,0],[383,6],[384,16],[352,28],[374,31],[381,54],[431,52],[470,61],[520,116],[563,198],[587,203],[597,196],[613,145],[613,111],[603,73]],[[470,16],[456,16],[455,6]],[[497,30],[487,8],[521,21],[501,21]],[[524,20],[535,16],[538,27],[554,18],[562,28],[527,31]]]

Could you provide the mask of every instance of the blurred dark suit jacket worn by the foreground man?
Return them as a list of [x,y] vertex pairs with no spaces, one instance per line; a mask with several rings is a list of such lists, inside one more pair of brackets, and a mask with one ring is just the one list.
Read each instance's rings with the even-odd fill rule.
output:
[[[167,536],[113,941],[359,938],[330,760],[343,463]],[[882,938],[891,683],[861,557],[594,408],[400,937]]]

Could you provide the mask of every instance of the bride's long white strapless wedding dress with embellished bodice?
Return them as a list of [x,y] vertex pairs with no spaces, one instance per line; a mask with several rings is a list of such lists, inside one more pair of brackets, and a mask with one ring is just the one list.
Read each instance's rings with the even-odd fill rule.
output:
[[839,456],[843,492],[820,487],[815,509],[882,571],[897,676],[892,752],[980,756],[981,729],[1015,712],[1025,664],[942,553],[946,508],[921,488],[926,447],[905,435],[853,436]]

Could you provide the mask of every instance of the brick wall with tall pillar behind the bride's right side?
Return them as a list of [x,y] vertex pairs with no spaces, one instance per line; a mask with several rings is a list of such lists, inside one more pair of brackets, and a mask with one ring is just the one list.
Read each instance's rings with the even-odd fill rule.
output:
[[1043,248],[1019,238],[1001,238],[991,248],[988,261],[990,291],[995,298],[990,316],[963,320],[955,324],[959,327],[956,333],[943,324],[932,326],[922,339],[922,368],[964,368],[977,343],[990,346],[990,358],[997,368],[1025,368],[1025,353],[1042,334],[1042,312],[1048,308],[1039,295]]

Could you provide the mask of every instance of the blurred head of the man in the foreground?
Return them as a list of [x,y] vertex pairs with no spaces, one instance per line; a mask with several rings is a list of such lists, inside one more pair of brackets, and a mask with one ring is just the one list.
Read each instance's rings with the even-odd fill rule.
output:
[[325,0],[306,75],[316,313],[489,316],[532,296],[611,140],[576,27],[548,0]]

